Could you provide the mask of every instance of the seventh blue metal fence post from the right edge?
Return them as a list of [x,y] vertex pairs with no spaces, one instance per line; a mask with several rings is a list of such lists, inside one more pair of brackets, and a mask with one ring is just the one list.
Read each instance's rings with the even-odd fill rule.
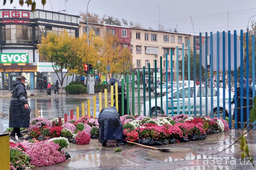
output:
[[219,117],[219,32],[217,32],[217,117]]

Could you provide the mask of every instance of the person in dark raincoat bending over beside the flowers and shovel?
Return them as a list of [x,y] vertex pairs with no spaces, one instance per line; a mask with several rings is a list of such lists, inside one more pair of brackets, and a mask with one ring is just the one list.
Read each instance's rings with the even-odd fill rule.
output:
[[123,125],[116,107],[103,108],[99,113],[99,138],[102,146],[108,140],[117,140],[116,146],[121,146],[123,140]]

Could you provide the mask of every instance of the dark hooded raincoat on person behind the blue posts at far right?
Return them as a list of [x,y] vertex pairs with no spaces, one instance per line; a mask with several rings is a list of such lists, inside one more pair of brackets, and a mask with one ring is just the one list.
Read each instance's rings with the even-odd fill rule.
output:
[[[239,78],[238,82],[240,85],[237,86],[237,107],[241,107],[241,98],[243,98],[243,105],[246,106],[246,78],[243,78],[243,82],[241,83],[241,80]],[[241,93],[241,84],[243,86],[243,92]],[[249,84],[249,105],[253,105],[253,86],[250,86]],[[232,103],[235,103],[235,95],[233,96]],[[251,111],[253,107],[249,107],[249,111]],[[243,108],[244,111],[244,122],[247,121],[247,108]],[[235,112],[233,113],[233,120],[235,120]],[[241,109],[237,109],[237,121],[241,122]]]

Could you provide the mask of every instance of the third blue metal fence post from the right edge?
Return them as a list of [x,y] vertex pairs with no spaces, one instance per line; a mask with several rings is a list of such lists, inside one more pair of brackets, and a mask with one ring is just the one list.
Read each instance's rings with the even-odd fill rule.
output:
[[[241,39],[240,39],[240,41],[241,41],[241,46],[240,46],[240,63],[241,63],[241,65],[240,65],[240,84],[243,84],[243,77],[244,77],[244,75],[243,75],[243,72],[244,72],[244,66],[243,66],[243,57],[244,57],[244,53],[243,53],[243,47],[244,47],[244,39],[243,39],[243,30],[241,30],[240,31],[240,35],[241,35]],[[243,86],[240,86],[240,92],[243,92],[244,91],[244,88],[243,88]],[[243,107],[244,106],[244,100],[243,100],[243,98],[242,98],[242,96],[240,96],[241,98],[241,107]],[[241,109],[241,115],[240,115],[240,117],[241,117],[241,120],[240,120],[240,122],[241,122],[241,129],[243,129],[244,128],[244,108],[240,108]],[[230,128],[230,127],[229,127]]]

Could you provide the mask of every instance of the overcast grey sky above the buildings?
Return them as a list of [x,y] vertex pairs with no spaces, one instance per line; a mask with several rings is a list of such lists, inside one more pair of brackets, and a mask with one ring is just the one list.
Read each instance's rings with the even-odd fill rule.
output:
[[[35,2],[37,9],[43,9],[41,0],[35,0]],[[44,9],[55,12],[65,9],[67,14],[72,15],[78,15],[79,11],[86,12],[88,0],[65,2],[66,0],[46,0]],[[21,7],[18,0],[14,0],[12,4],[7,1],[5,6],[2,4],[1,6],[4,9],[13,9],[14,6],[17,9],[28,9],[26,4]],[[100,16],[107,14],[120,21],[123,18],[129,26],[130,21],[133,21],[145,28],[158,29],[158,7],[160,7],[160,24],[166,30],[173,31],[177,27],[178,32],[192,35],[194,30],[196,35],[199,32],[216,33],[227,30],[231,33],[233,30],[238,30],[240,33],[241,29],[245,32],[249,18],[256,15],[256,0],[90,0],[88,11]],[[253,19],[256,21],[256,16],[250,21]]]

